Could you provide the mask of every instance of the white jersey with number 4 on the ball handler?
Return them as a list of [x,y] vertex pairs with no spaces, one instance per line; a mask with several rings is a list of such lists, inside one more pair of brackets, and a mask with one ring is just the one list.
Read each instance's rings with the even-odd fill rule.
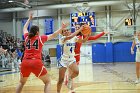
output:
[[65,36],[63,36],[61,38],[61,45],[62,45],[62,55],[64,56],[74,56],[75,52],[75,42],[77,41],[77,37],[73,37],[70,40],[66,40],[65,42],[63,42]]

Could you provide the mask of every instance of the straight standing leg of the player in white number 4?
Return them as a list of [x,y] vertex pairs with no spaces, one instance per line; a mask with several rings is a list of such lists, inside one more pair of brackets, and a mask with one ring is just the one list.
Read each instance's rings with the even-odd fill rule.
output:
[[57,82],[57,93],[60,93],[60,91],[61,91],[61,87],[62,87],[62,84],[64,81],[66,69],[67,69],[66,67],[59,68],[59,78],[58,78],[58,82]]

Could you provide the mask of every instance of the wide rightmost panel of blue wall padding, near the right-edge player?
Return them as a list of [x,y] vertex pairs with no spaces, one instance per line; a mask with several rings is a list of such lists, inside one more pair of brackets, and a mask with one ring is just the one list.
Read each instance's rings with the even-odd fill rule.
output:
[[114,62],[134,62],[135,54],[131,54],[131,45],[132,42],[115,43],[113,46]]

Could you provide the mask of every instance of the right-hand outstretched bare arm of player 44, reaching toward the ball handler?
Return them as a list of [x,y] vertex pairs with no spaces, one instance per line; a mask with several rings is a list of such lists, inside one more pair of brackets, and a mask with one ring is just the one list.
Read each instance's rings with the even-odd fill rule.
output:
[[50,34],[50,35],[48,36],[48,40],[54,39],[58,34],[62,33],[62,30],[63,30],[64,28],[66,28],[67,26],[68,26],[68,24],[62,23],[62,26],[61,26],[60,29],[58,29],[58,30],[55,31],[53,34]]

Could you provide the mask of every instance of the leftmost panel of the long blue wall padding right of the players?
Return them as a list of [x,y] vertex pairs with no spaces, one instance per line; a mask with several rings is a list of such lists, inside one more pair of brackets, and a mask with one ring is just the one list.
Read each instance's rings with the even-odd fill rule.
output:
[[93,62],[105,62],[105,46],[104,43],[92,44],[92,61]]

